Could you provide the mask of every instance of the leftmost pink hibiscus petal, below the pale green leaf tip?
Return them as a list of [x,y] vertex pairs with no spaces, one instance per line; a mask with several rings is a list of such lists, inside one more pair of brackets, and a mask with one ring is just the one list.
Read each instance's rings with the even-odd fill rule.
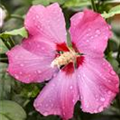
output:
[[54,49],[55,45],[45,39],[29,37],[7,53],[8,72],[25,83],[48,80],[57,70],[50,67],[55,57]]

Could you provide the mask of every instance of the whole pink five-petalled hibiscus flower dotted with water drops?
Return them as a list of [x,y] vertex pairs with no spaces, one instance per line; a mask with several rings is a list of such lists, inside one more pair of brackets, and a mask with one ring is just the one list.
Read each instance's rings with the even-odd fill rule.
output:
[[89,113],[111,103],[119,78],[104,59],[111,31],[100,14],[85,10],[71,18],[72,48],[66,45],[65,20],[57,3],[32,6],[25,27],[29,37],[7,53],[8,72],[24,83],[50,80],[34,102],[37,111],[68,120],[77,101]]

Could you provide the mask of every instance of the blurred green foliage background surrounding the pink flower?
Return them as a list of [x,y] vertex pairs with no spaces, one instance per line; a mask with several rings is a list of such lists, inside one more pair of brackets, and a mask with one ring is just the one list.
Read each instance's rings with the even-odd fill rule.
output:
[[[0,8],[5,11],[5,19],[0,27],[0,33],[18,29],[24,26],[24,16],[33,4],[45,6],[58,2],[64,12],[66,28],[70,26],[70,17],[76,12],[91,7],[91,0],[0,0]],[[120,5],[120,0],[95,0],[99,13],[108,13],[113,7]],[[120,7],[117,9],[120,12]],[[0,13],[1,14],[1,13]],[[1,17],[1,15],[0,15]],[[120,14],[106,19],[112,26],[113,35],[105,51],[106,59],[111,63],[120,77]],[[21,42],[21,36],[13,36],[15,44]],[[61,120],[59,116],[44,117],[35,111],[33,101],[44,87],[42,84],[23,84],[8,75],[6,68],[8,61],[5,53],[8,48],[0,40],[0,120]],[[111,106],[98,114],[84,113],[75,106],[71,120],[120,120],[120,93]]]

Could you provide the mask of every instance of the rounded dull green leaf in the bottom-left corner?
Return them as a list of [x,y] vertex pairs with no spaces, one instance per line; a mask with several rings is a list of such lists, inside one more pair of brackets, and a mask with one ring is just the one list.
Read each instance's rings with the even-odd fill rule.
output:
[[26,113],[23,108],[13,101],[0,101],[0,114],[4,116],[2,120],[25,120]]

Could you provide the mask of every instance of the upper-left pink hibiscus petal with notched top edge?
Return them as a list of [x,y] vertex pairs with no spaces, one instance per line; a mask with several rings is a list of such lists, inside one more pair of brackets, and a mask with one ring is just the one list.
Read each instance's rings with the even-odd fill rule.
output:
[[66,40],[65,20],[57,3],[46,8],[42,5],[31,7],[26,15],[25,27],[29,34],[39,34],[55,43]]

